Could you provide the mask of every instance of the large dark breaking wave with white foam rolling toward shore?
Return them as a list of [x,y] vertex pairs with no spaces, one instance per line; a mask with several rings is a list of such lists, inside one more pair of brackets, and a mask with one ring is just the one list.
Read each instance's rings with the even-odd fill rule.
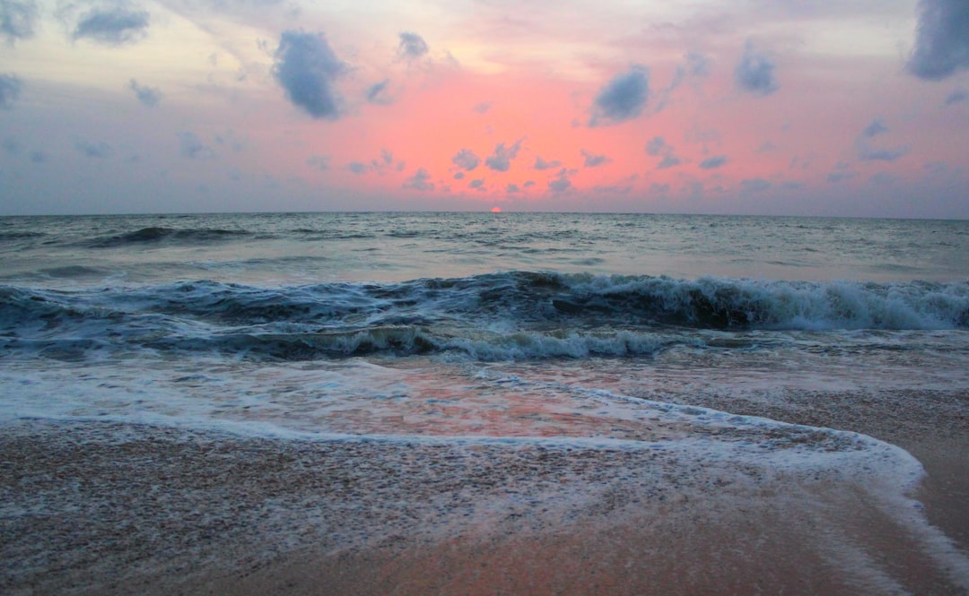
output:
[[[474,360],[748,348],[748,332],[969,328],[969,283],[804,283],[509,272],[403,283],[0,286],[6,353],[214,351]],[[730,332],[729,335],[724,335]],[[745,335],[748,334],[748,335]],[[756,334],[754,334],[756,336]]]

